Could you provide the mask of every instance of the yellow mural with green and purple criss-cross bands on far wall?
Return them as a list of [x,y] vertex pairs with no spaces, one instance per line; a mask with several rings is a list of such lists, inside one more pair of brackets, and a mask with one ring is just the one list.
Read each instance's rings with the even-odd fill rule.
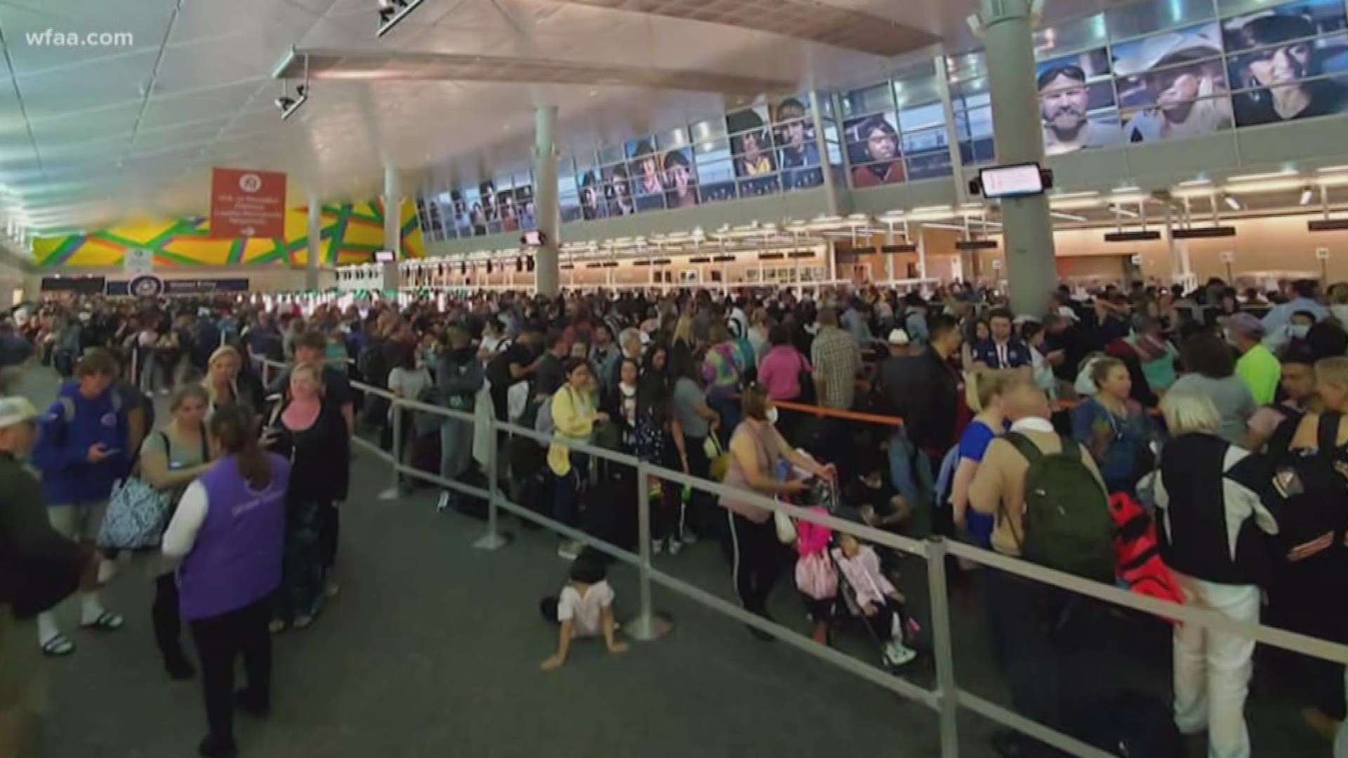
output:
[[[422,258],[421,228],[410,200],[403,201],[399,218],[403,229],[403,258]],[[324,205],[322,266],[368,263],[384,244],[383,201]],[[121,266],[128,248],[155,254],[156,267],[309,264],[309,208],[286,212],[286,237],[213,239],[205,217],[175,221],[131,221],[101,232],[38,237],[32,241],[34,262],[44,268],[80,266]]]

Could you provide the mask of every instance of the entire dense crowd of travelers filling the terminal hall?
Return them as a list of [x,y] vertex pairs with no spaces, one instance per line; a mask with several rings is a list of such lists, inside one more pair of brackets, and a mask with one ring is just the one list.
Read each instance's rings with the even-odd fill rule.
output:
[[[0,357],[32,355],[70,379],[43,413],[0,401],[0,477],[26,476],[4,461],[30,448],[42,475],[40,488],[12,488],[23,500],[5,502],[0,518],[0,604],[11,610],[0,623],[35,615],[38,649],[69,655],[74,643],[53,608],[78,589],[82,627],[123,627],[97,588],[127,561],[90,546],[109,498],[137,477],[171,503],[147,561],[151,618],[168,676],[201,666],[206,757],[236,753],[236,705],[270,709],[270,634],[309,627],[340,592],[338,506],[357,433],[403,450],[414,468],[472,484],[488,475],[483,448],[499,445],[515,503],[625,548],[636,541],[635,472],[576,445],[1155,593],[1116,558],[1124,530],[1115,514],[1134,503],[1161,557],[1148,579],[1167,599],[1348,642],[1344,614],[1317,602],[1348,577],[1343,285],[1328,295],[1314,282],[1278,293],[1236,293],[1217,279],[1192,293],[1064,287],[1020,316],[998,293],[960,283],[927,295],[479,293],[272,310],[86,298],[15,316],[0,325]],[[264,387],[253,359],[287,368]],[[352,379],[458,413],[395,407],[353,391]],[[156,392],[171,397],[163,424]],[[868,424],[857,411],[902,422]],[[551,442],[483,440],[485,417]],[[749,612],[774,620],[770,597],[794,564],[818,642],[856,616],[886,665],[918,655],[891,552],[783,525],[736,496],[658,476],[642,486],[652,550],[720,545]],[[480,514],[484,504],[446,491],[439,507]],[[543,603],[561,635],[543,668],[565,662],[574,637],[625,651],[603,561],[569,540],[558,554],[572,571]],[[51,581],[12,579],[34,565]],[[1099,742],[1078,711],[1100,684],[1085,680],[1100,608],[1004,572],[972,575],[1015,708]],[[1213,758],[1250,755],[1254,642],[1177,624],[1173,649],[1173,728],[1206,731]],[[236,700],[239,655],[248,687]],[[1291,665],[1305,672],[1308,722],[1332,739],[1343,668]],[[1057,755],[1015,732],[993,745],[1003,755]]]

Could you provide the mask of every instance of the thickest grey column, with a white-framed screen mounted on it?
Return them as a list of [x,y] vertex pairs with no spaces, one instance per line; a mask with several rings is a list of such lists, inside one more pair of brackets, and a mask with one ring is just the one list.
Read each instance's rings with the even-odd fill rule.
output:
[[[998,163],[1043,163],[1030,0],[981,1]],[[1002,221],[1011,308],[1020,314],[1042,314],[1058,278],[1049,198],[1039,194],[1003,200]]]

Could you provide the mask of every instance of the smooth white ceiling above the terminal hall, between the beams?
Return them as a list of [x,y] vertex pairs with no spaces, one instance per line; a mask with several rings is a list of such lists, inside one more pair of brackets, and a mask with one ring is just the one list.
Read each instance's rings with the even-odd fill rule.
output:
[[[1105,3],[1054,1],[1073,15]],[[968,45],[962,19],[977,0],[828,4]],[[874,80],[894,65],[745,26],[555,0],[426,0],[379,39],[375,5],[0,0],[0,217],[22,209],[40,233],[137,214],[204,213],[212,166],[286,171],[295,201],[310,190],[325,200],[363,198],[380,192],[384,166],[407,171],[415,186],[429,166],[437,175],[468,175],[523,161],[537,104],[561,108],[563,150],[696,120],[725,105],[717,93],[635,86],[315,81],[305,107],[282,121],[274,105],[280,82],[271,71],[291,47],[720,71],[799,86]],[[28,32],[49,28],[131,32],[135,42],[28,42]]]

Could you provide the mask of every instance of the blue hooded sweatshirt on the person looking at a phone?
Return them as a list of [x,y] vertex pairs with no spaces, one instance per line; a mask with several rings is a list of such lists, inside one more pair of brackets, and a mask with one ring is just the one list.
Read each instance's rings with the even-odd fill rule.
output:
[[[112,483],[129,461],[127,414],[120,406],[111,390],[97,398],[84,397],[77,382],[66,382],[57,391],[32,450],[47,504],[92,503],[112,494]],[[115,452],[89,463],[89,448],[98,442]]]

